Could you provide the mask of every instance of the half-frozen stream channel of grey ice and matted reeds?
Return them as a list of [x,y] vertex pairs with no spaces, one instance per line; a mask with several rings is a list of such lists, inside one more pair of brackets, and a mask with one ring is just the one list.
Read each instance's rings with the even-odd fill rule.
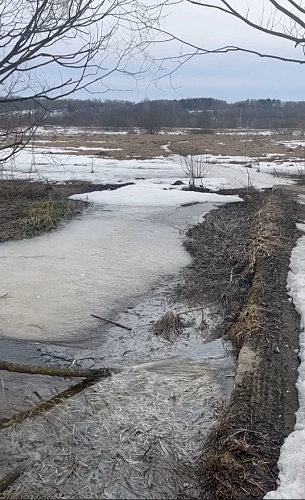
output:
[[[213,208],[96,205],[57,231],[0,245],[0,296],[7,294],[0,300],[1,359],[114,369],[51,417],[2,433],[4,469],[22,453],[43,456],[23,477],[21,497],[29,488],[31,498],[200,495],[194,471],[217,408],[230,394],[234,362],[221,340],[202,333],[202,322],[213,326],[217,314],[207,307],[190,311],[173,302],[171,291],[190,263],[183,231]],[[173,341],[151,330],[167,311],[179,313],[185,325]],[[71,385],[0,375],[1,418]],[[68,474],[73,463],[77,473]]]

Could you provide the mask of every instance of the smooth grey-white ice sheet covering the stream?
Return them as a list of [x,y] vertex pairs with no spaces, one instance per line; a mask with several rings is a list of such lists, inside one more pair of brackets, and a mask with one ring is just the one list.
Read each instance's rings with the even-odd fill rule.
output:
[[[210,206],[196,206],[202,213]],[[95,209],[43,236],[0,245],[2,336],[59,340],[96,327],[127,299],[189,262],[181,235],[190,208]],[[180,219],[180,220],[179,220]]]

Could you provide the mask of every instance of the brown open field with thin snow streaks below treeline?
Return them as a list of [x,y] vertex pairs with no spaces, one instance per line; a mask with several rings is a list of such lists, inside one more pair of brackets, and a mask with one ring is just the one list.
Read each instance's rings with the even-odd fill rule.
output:
[[[147,134],[94,134],[90,131],[71,129],[54,131],[49,135],[48,129],[37,135],[35,147],[46,146],[66,150],[66,153],[92,154],[102,158],[126,160],[129,158],[147,159],[171,154],[205,154],[222,156],[245,156],[252,158],[275,157],[278,160],[288,160],[292,156],[303,156],[302,144],[305,138],[301,131],[296,133],[277,134],[274,131],[247,131],[246,133],[228,133],[227,131],[212,131],[208,134],[168,133]],[[300,145],[300,144],[301,145]],[[293,153],[293,154],[292,154]]]

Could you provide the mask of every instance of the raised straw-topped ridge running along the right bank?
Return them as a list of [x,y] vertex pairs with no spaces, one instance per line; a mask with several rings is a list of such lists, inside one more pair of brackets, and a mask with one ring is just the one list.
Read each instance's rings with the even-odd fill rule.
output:
[[[274,425],[274,415],[284,413],[282,377],[287,380],[287,374],[269,353],[281,345],[282,310],[276,295],[280,285],[274,271],[279,256],[287,251],[291,231],[295,232],[293,210],[288,198],[271,193],[252,218],[247,252],[252,284],[237,320],[229,326],[229,336],[237,353],[248,346],[257,361],[235,382],[229,408],[205,444],[202,487],[211,500],[262,498],[275,487],[285,433],[280,419]],[[291,237],[290,245],[293,241]],[[286,280],[284,296],[285,284]]]

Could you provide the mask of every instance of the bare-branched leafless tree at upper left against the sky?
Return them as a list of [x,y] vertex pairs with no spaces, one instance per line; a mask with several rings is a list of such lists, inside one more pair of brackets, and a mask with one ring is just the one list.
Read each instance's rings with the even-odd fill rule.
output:
[[[141,0],[0,0],[0,161],[24,147],[48,102],[115,72],[139,76],[162,4]],[[141,56],[141,57],[140,57]],[[96,88],[95,88],[96,90]]]

